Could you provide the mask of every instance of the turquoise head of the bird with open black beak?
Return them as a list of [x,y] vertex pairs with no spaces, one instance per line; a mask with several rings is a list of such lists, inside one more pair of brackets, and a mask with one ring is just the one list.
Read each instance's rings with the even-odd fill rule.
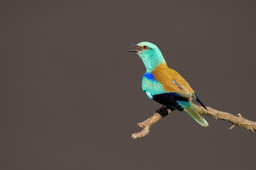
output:
[[140,42],[139,44],[130,43],[130,46],[136,46],[139,50],[129,50],[128,52],[134,52],[139,55],[142,62],[146,67],[146,72],[150,73],[155,70],[159,64],[164,64],[165,60],[161,51],[155,44],[150,42]]

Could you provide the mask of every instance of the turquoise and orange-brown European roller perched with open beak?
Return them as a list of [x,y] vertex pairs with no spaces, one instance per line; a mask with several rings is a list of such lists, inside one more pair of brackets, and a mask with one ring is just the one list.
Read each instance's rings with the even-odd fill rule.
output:
[[142,89],[150,99],[173,108],[185,110],[195,121],[202,126],[208,126],[204,118],[193,108],[190,100],[195,99],[205,109],[204,104],[195,94],[189,83],[177,71],[168,68],[161,51],[150,42],[131,43],[140,50],[129,50],[139,55],[146,67],[142,76]]

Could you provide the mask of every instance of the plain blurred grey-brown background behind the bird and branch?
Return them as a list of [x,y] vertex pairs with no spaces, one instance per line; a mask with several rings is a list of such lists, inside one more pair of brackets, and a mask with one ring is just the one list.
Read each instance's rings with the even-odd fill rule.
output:
[[256,137],[141,89],[149,41],[206,106],[256,121],[256,2],[1,1],[0,170],[255,170]]

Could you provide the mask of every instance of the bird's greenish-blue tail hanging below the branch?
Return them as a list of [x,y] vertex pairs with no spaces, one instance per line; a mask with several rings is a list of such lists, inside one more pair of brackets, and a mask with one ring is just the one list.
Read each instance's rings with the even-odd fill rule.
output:
[[184,110],[189,113],[195,121],[197,121],[201,126],[209,126],[206,120],[193,108],[192,104],[190,101],[188,102],[183,102],[183,101],[177,101],[183,108]]

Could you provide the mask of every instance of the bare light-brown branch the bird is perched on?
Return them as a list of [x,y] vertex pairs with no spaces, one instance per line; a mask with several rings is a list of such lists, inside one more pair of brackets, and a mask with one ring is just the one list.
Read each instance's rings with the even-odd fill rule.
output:
[[[192,103],[195,110],[198,111],[198,113],[202,115],[209,115],[211,117],[214,117],[216,119],[221,119],[225,121],[229,121],[232,123],[232,126],[229,128],[230,130],[233,129],[236,125],[244,127],[248,130],[251,130],[254,132],[256,130],[256,122],[255,121],[250,121],[248,119],[245,119],[240,113],[238,115],[232,115],[227,112],[222,112],[219,110],[215,110],[211,107],[207,107],[208,111],[203,108],[202,106],[199,106],[197,104]],[[157,111],[155,111],[154,115],[151,116],[150,118],[146,119],[143,122],[138,123],[139,128],[141,128],[141,132],[134,133],[132,134],[133,139],[138,139],[141,137],[144,137],[148,135],[150,131],[150,127],[157,123],[162,117],[165,117],[166,115],[169,115],[173,111],[172,108],[162,106],[159,108]]]

